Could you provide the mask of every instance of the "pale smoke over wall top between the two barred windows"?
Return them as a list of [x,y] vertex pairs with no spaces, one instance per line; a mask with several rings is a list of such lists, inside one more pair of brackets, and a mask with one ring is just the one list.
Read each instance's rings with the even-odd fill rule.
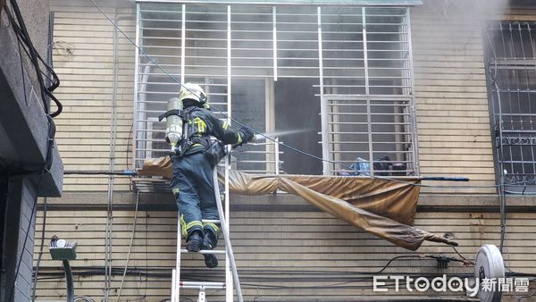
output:
[[[490,47],[490,22],[505,19],[508,4],[508,0],[424,0],[411,14],[415,61],[434,56],[433,61],[440,63],[426,66],[468,71],[464,63],[482,62],[482,49]],[[467,74],[465,80],[471,79]]]

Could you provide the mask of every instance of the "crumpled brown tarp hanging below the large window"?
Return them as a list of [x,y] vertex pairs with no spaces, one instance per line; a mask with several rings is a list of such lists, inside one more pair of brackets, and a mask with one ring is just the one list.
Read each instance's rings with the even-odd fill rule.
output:
[[[170,180],[171,159],[169,156],[146,159],[138,173]],[[280,189],[303,197],[323,212],[399,247],[416,250],[424,240],[457,245],[455,241],[412,226],[420,190],[412,183],[418,183],[417,178],[397,182],[370,177],[253,175],[231,171],[229,180],[231,193],[263,195]]]

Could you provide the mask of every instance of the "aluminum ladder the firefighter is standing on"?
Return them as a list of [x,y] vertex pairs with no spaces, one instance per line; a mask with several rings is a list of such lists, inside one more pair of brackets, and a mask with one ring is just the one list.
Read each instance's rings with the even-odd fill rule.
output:
[[[225,160],[225,169],[226,173],[228,173],[228,167],[229,167],[229,156],[226,156]],[[232,284],[234,281],[234,285],[237,292],[237,298],[239,302],[243,302],[244,298],[242,297],[242,290],[240,288],[240,281],[239,281],[239,273],[237,271],[237,265],[235,262],[234,254],[232,253],[232,246],[230,244],[230,237],[229,237],[229,221],[226,219],[226,216],[223,213],[223,206],[222,206],[222,198],[220,197],[220,189],[218,184],[218,171],[217,167],[214,167],[214,193],[216,196],[216,204],[218,206],[218,214],[220,215],[220,220],[204,220],[203,222],[213,222],[213,223],[220,223],[222,227],[222,233],[223,233],[223,239],[225,244],[225,250],[200,250],[197,253],[200,254],[226,254],[226,278],[225,282],[206,282],[206,281],[181,281],[180,280],[180,256],[184,253],[190,253],[187,249],[183,249],[181,247],[182,239],[181,239],[181,233],[180,233],[180,213],[178,212],[178,219],[177,219],[177,260],[175,263],[175,268],[172,270],[172,302],[180,302],[180,289],[199,289],[199,296],[197,298],[197,302],[206,302],[206,289],[226,289],[226,301],[232,302],[233,301],[233,295],[232,295]],[[226,177],[227,179],[227,177]],[[228,188],[228,181],[226,180],[226,186],[225,186],[225,193],[226,197],[229,196],[229,188]],[[226,208],[227,214],[229,214],[228,207]],[[229,264],[229,265],[227,265]],[[230,271],[229,272],[229,266]],[[232,273],[232,277],[230,276],[230,273]]]

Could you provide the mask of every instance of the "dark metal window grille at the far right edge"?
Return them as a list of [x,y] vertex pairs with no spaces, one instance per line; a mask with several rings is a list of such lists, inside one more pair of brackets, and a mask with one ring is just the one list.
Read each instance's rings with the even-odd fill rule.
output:
[[536,22],[493,21],[486,65],[498,180],[510,193],[535,192]]

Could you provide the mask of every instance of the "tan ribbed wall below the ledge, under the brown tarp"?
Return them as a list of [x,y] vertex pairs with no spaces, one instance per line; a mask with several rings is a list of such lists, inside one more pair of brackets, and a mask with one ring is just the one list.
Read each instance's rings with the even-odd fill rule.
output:
[[[302,203],[306,206],[305,202]],[[144,272],[149,268],[159,276],[129,275],[123,285],[121,300],[145,298],[159,301],[169,298],[175,258],[174,215],[163,211],[138,213],[129,267],[133,271]],[[117,275],[113,278],[112,292],[115,295],[121,285],[129,250],[133,216],[133,211],[114,212],[113,267]],[[75,271],[90,272],[92,266],[102,269],[105,218],[105,211],[49,211],[46,238],[55,234],[76,239],[79,243],[78,259],[71,263]],[[534,218],[535,214],[508,214],[505,258],[511,270],[524,273],[536,270],[536,256],[532,253],[536,248]],[[41,222],[38,218],[38,230]],[[233,247],[248,301],[373,298],[372,282],[359,281],[363,277],[359,272],[379,271],[392,256],[417,255],[318,212],[234,212],[231,222]],[[498,222],[498,214],[495,213],[419,213],[415,224],[439,234],[452,233],[460,243],[460,253],[472,259],[482,244],[498,244]],[[36,248],[39,243],[37,239]],[[420,255],[440,253],[455,256],[450,247],[439,244],[426,243],[418,251]],[[188,277],[205,281],[223,280],[222,269],[206,269],[200,255],[184,258],[188,259],[183,263],[185,280]],[[49,259],[45,253],[40,272],[59,272],[57,268],[61,263]],[[435,261],[429,259],[398,260],[386,272],[473,274],[473,268],[465,268],[462,264],[451,263],[448,270],[437,269],[435,265]],[[75,281],[77,295],[95,300],[103,297],[102,275],[77,276]],[[63,289],[63,279],[41,280],[38,298],[58,298]],[[222,291],[210,292],[208,298],[222,300],[222,294]],[[395,296],[396,293],[391,291],[389,295]]]

